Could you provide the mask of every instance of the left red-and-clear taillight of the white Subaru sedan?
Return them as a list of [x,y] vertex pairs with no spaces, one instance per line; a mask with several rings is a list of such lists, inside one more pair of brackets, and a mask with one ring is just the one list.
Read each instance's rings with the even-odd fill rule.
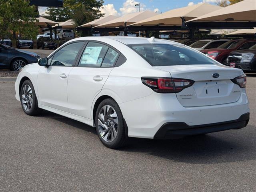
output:
[[162,77],[142,77],[142,83],[158,93],[178,93],[192,86],[193,80]]

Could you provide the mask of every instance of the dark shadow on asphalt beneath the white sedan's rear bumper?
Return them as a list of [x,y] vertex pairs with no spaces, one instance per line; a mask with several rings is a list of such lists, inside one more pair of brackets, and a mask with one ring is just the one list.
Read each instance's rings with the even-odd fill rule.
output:
[[[247,126],[246,128],[255,129],[256,127]],[[250,145],[250,143],[254,143],[254,136],[248,136],[248,140],[241,142],[237,135],[239,133],[236,134],[236,139],[231,138],[228,131],[226,131],[226,135],[225,131],[222,132],[222,135],[219,133],[172,140],[130,138],[129,145],[120,151],[145,153],[173,162],[190,164],[240,162],[256,158],[254,144]]]

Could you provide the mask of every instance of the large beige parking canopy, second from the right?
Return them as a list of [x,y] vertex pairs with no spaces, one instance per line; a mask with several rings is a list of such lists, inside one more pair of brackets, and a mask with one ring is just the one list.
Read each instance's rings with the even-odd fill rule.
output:
[[208,3],[196,4],[193,6],[182,7],[173,9],[162,14],[141,20],[132,26],[181,26],[182,17],[188,21],[198,16],[204,15],[208,12],[222,9],[220,6],[211,5]]

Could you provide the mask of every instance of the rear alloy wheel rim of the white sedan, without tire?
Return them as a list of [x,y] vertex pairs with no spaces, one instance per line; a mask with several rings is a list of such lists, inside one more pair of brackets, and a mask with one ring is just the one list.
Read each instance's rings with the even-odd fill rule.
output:
[[98,130],[106,142],[115,140],[118,133],[118,116],[112,106],[105,105],[98,115]]

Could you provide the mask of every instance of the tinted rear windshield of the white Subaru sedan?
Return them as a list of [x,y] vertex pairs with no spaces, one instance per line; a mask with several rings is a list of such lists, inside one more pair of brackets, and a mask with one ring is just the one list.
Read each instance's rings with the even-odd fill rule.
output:
[[176,44],[130,44],[152,66],[218,64],[192,48]]

